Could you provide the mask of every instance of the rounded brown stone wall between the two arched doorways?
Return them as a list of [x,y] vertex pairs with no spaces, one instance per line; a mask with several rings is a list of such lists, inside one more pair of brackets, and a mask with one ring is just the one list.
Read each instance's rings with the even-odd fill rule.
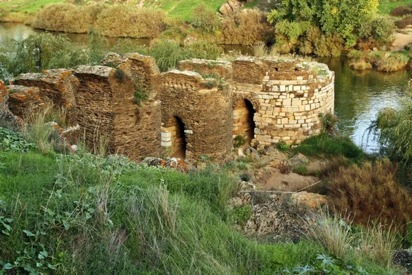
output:
[[[218,162],[232,147],[231,91],[215,79],[173,70],[162,75],[162,122],[176,116],[185,125],[186,159],[210,157]],[[165,125],[168,126],[168,125]],[[165,130],[165,129],[163,129]],[[168,132],[162,133],[166,136]],[[172,146],[165,137],[163,146]]]

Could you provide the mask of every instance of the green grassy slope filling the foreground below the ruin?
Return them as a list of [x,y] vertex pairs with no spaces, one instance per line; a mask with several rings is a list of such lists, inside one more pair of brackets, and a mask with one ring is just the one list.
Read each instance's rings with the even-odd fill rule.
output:
[[[114,167],[106,164],[90,155],[56,162],[55,155],[0,151],[0,200],[5,202],[0,221],[14,219],[10,236],[0,233],[5,248],[0,267],[24,253],[21,266],[50,263],[58,274],[274,274],[313,264],[325,252],[308,241],[259,244],[233,230],[222,221],[227,212],[219,199],[233,180],[221,171],[183,175],[126,168],[112,181],[108,215],[102,215],[99,202]],[[91,217],[84,218],[88,211]],[[23,230],[44,235],[27,236]],[[46,259],[38,259],[41,250],[49,254]],[[359,264],[370,274],[393,274],[373,263]]]

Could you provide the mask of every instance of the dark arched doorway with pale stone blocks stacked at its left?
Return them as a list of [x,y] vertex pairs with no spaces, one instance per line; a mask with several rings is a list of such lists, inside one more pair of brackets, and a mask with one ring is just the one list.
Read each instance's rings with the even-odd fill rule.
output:
[[186,157],[185,124],[178,116],[172,116],[165,124],[165,133],[170,137],[170,157]]

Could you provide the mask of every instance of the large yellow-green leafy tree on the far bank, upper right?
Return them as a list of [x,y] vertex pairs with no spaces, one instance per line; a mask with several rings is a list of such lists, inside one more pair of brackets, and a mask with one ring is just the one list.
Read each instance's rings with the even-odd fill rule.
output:
[[393,23],[377,17],[377,7],[378,0],[284,0],[267,20],[275,24],[276,44],[283,52],[299,49],[303,54],[339,56],[343,47],[353,47],[361,37],[389,38]]

